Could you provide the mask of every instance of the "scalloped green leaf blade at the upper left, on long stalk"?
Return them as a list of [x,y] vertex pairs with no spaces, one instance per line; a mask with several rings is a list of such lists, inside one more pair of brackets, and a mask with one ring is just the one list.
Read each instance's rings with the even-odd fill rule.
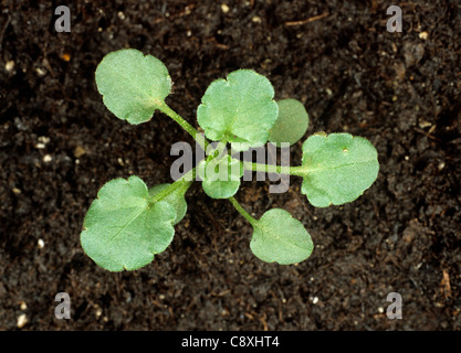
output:
[[150,120],[171,92],[164,63],[134,49],[104,56],[96,68],[96,85],[107,109],[134,125]]

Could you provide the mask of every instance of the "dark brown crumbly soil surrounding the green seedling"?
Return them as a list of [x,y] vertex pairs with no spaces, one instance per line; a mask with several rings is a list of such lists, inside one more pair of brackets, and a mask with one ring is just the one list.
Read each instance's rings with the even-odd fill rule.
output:
[[[75,1],[72,32],[57,33],[60,2],[1,1],[0,330],[21,314],[22,330],[459,330],[459,1],[401,3],[402,33],[386,31],[388,1],[222,2],[228,12],[209,0]],[[99,188],[130,174],[169,182],[171,145],[192,142],[163,114],[129,126],[104,107],[94,71],[122,47],[166,64],[167,103],[192,125],[211,81],[266,75],[277,99],[305,104],[306,136],[368,138],[376,183],[328,208],[308,204],[298,178],[284,194],[243,183],[237,199],[256,217],[283,207],[311,233],[314,253],[297,266],[254,257],[247,221],[196,183],[165,253],[105,271],[80,246]],[[394,291],[402,320],[386,315]],[[54,317],[57,292],[71,320]]]

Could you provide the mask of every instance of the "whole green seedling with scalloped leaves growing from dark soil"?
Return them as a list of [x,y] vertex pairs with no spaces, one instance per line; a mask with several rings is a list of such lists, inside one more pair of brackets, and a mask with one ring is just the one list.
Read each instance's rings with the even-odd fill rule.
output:
[[[274,100],[274,89],[264,76],[238,69],[217,79],[206,90],[197,109],[198,125],[211,141],[175,113],[165,98],[171,78],[156,57],[136,50],[106,55],[96,69],[96,84],[106,107],[119,119],[138,125],[159,110],[208,151],[208,157],[179,180],[150,189],[138,176],[107,182],[90,206],[81,234],[84,252],[109,271],[135,270],[150,264],[175,235],[175,225],[186,214],[185,194],[196,175],[213,199],[229,199],[253,227],[250,248],[266,263],[295,264],[310,257],[313,243],[303,224],[281,208],[252,217],[233,195],[244,170],[277,172],[303,178],[301,192],[316,207],[340,205],[360,196],[376,180],[379,163],[374,146],[349,133],[324,132],[303,143],[302,165],[281,167],[242,162],[233,152],[265,146],[296,143],[306,132],[308,116],[294,99]],[[226,149],[231,145],[231,151]]]

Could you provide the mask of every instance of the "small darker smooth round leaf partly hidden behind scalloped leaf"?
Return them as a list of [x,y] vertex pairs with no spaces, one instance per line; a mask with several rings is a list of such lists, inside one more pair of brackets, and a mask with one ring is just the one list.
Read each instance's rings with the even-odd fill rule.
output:
[[308,115],[304,105],[296,99],[283,99],[277,101],[279,117],[271,129],[269,141],[277,147],[282,142],[290,146],[296,143],[308,127]]

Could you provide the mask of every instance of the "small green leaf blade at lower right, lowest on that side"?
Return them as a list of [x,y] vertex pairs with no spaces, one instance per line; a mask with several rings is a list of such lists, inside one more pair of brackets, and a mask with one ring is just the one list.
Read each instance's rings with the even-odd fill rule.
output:
[[281,208],[272,208],[253,222],[250,247],[263,261],[291,265],[311,256],[314,245],[303,224]]

